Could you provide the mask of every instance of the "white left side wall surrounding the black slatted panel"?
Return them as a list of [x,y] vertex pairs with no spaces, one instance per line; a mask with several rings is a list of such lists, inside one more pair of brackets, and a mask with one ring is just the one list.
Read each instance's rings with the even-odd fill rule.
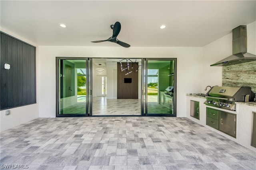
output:
[[[38,77],[38,47],[35,45],[35,43],[19,35],[16,35],[6,29],[1,28],[1,31],[36,47],[36,76]],[[11,66],[11,69],[12,69],[12,66]],[[0,131],[5,131],[6,129],[13,128],[17,125],[26,123],[28,121],[31,121],[39,117],[38,78],[36,79],[36,102],[37,102],[36,104],[31,104],[31,105],[22,106],[22,107],[15,107],[12,109],[6,109],[6,110],[10,110],[10,115],[5,115],[6,110],[1,110],[0,111]]]

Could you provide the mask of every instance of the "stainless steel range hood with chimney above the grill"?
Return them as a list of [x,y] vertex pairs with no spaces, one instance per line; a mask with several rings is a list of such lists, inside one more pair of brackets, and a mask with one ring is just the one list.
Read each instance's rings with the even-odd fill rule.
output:
[[230,66],[234,64],[256,61],[256,55],[247,53],[246,25],[240,25],[232,30],[232,54],[226,59],[218,61],[211,66]]

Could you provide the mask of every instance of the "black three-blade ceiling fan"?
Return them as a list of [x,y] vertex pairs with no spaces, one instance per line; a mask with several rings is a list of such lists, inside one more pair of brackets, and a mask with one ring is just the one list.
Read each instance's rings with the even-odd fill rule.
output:
[[110,28],[113,29],[113,35],[111,37],[109,37],[106,40],[101,40],[101,41],[91,41],[92,43],[100,43],[100,42],[104,42],[104,41],[110,41],[112,43],[117,43],[119,45],[121,45],[122,47],[130,47],[129,44],[124,43],[122,41],[119,41],[116,37],[119,34],[120,30],[121,30],[121,24],[120,22],[116,22],[114,25],[110,25]]

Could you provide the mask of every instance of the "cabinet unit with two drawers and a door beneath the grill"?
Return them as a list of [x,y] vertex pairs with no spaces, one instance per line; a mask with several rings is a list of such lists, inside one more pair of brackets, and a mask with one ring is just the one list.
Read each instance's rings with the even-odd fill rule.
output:
[[236,138],[236,114],[206,107],[206,125]]

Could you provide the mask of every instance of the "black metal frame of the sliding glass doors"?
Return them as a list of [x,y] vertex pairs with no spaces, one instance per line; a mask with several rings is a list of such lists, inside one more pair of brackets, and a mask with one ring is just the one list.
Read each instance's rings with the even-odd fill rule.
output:
[[[85,114],[58,114],[59,113],[59,60],[86,60],[86,113]],[[86,116],[113,116],[113,115],[92,115],[92,59],[87,57],[56,57],[56,117],[86,117]],[[170,60],[174,61],[174,114],[148,114],[147,84],[148,61],[149,60]],[[141,58],[141,114],[125,116],[171,116],[176,117],[176,79],[177,79],[176,58]],[[114,115],[124,116],[124,115]]]

